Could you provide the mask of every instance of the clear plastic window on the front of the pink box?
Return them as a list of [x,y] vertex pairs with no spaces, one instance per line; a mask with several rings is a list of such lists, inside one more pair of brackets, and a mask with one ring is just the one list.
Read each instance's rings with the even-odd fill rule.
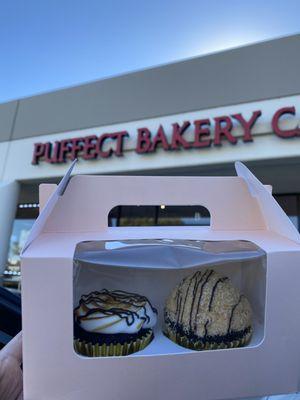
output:
[[[82,356],[134,357],[240,346],[251,348],[259,346],[264,338],[266,254],[249,241],[81,242],[74,254],[73,285],[74,346]],[[234,320],[239,324],[237,319],[245,317],[241,302],[251,308],[251,334],[248,333],[247,341],[237,340],[239,336],[235,337],[235,331],[229,326]],[[173,307],[171,316],[174,307],[178,308],[179,318],[173,321],[174,326],[168,320],[168,307]],[[203,342],[194,336],[185,342],[185,338],[173,337],[173,331],[168,331],[168,324],[177,329],[176,323],[180,327],[180,321],[188,330],[188,318],[191,329],[199,321],[203,324]],[[218,318],[224,321],[219,324]],[[137,332],[133,330],[134,324]],[[224,324],[228,324],[226,332],[222,331]],[[126,330],[133,335],[128,336],[132,344],[134,334],[145,327],[152,330],[151,340],[148,337],[143,342],[143,338],[138,338],[139,345],[134,341],[131,349],[124,350]],[[198,331],[201,329],[199,327]],[[218,332],[218,337],[212,333],[214,331]],[[82,337],[80,332],[83,332]],[[121,344],[120,333],[123,335]],[[110,342],[112,338],[116,339],[114,345]]]

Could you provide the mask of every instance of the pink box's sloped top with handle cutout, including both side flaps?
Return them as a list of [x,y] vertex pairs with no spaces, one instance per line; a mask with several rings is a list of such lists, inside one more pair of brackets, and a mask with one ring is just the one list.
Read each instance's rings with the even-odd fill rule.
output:
[[30,243],[42,232],[108,229],[108,213],[119,204],[201,204],[211,214],[211,226],[206,229],[271,230],[300,242],[298,231],[269,188],[239,162],[237,177],[77,175],[69,180],[73,167],[74,163],[48,199],[29,235]]

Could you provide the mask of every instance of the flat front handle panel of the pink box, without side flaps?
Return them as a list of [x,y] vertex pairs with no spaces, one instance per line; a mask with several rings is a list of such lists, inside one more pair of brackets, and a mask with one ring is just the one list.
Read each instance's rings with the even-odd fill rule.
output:
[[43,230],[97,232],[119,205],[201,204],[212,230],[266,229],[256,198],[240,177],[83,176],[70,179]]

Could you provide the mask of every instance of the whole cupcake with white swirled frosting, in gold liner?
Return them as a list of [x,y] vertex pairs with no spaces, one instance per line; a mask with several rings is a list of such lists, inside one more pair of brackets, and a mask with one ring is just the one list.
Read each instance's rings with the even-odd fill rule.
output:
[[88,357],[126,356],[152,341],[157,310],[145,296],[103,289],[81,296],[74,319],[77,353]]

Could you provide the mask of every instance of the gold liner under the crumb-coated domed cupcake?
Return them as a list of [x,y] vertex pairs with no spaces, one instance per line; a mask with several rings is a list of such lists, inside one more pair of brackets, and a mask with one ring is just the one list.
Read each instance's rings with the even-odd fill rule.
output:
[[201,340],[199,341],[191,341],[186,336],[180,336],[174,333],[170,328],[165,327],[164,334],[172,340],[172,342],[177,343],[179,346],[186,347],[191,350],[217,350],[217,349],[231,349],[234,347],[243,347],[246,346],[251,339],[252,329],[239,340],[234,340],[232,342],[222,342],[222,343],[203,343]]

